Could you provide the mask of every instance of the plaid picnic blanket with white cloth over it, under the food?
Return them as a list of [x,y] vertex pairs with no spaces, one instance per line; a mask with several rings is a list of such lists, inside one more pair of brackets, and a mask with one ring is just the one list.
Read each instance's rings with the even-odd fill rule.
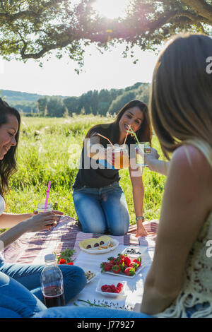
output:
[[[74,265],[80,266],[85,272],[93,271],[96,278],[90,280],[90,283],[68,305],[112,307],[139,312],[144,280],[153,259],[158,220],[146,221],[143,223],[143,226],[148,232],[148,236],[135,237],[136,227],[131,226],[126,235],[110,235],[110,237],[119,241],[117,249],[107,254],[94,255],[81,251],[78,244],[83,239],[97,238],[102,234],[81,232],[76,220],[68,215],[63,215],[57,226],[52,228],[52,230],[26,233],[4,249],[4,251],[1,251],[1,254],[3,254],[4,261],[8,263],[44,264],[46,254],[55,252],[59,256],[61,251],[64,251],[66,248],[74,249],[72,256]],[[119,296],[114,299],[103,297],[95,291],[98,280],[105,278],[107,283],[112,284],[116,283],[117,280],[122,281],[122,277],[100,273],[100,263],[107,261],[108,256],[119,254],[127,246],[136,246],[141,249],[143,259],[141,271],[136,273],[134,278],[124,278],[127,281],[126,297]],[[114,278],[117,279],[114,280]]]

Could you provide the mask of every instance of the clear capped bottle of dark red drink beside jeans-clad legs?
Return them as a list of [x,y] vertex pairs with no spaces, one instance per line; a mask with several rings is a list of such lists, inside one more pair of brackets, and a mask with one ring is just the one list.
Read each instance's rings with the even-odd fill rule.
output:
[[64,306],[64,280],[54,254],[45,256],[45,268],[40,280],[46,307]]

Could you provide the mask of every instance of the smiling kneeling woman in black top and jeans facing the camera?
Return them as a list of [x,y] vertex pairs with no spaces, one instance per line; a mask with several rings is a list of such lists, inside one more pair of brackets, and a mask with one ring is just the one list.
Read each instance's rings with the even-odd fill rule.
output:
[[[136,213],[136,237],[147,235],[143,228],[143,182],[136,165],[136,140],[127,133],[129,126],[140,142],[151,143],[148,107],[140,100],[131,100],[119,111],[114,122],[93,126],[86,135],[81,166],[73,184],[73,203],[83,232],[124,235],[129,229],[129,212],[119,185],[119,169],[112,165],[111,147],[128,148],[125,166],[129,167]],[[101,136],[99,136],[100,134]],[[102,136],[107,137],[110,143]],[[116,155],[115,155],[116,158]],[[126,165],[127,162],[127,165]]]

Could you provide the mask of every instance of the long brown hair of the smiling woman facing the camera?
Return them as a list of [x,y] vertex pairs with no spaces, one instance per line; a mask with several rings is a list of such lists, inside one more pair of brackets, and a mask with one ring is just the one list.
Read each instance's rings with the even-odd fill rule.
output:
[[[141,112],[143,113],[143,121],[141,123],[141,127],[139,128],[138,131],[136,131],[136,136],[138,137],[140,142],[149,142],[151,143],[151,138],[152,138],[152,130],[151,130],[151,124],[150,124],[150,119],[148,116],[148,106],[144,103],[141,102],[141,100],[131,100],[130,102],[126,103],[122,109],[119,110],[117,117],[115,120],[111,123],[114,126],[114,137],[113,141],[114,143],[118,143],[119,141],[119,136],[120,136],[120,131],[119,131],[119,121],[122,118],[122,115],[128,110],[131,109],[132,107],[139,107]],[[89,131],[88,134],[86,135],[86,138],[90,137],[90,132],[93,132],[93,129],[98,129],[100,127],[107,128],[107,126],[110,126],[111,124],[97,124],[96,126],[93,126]]]

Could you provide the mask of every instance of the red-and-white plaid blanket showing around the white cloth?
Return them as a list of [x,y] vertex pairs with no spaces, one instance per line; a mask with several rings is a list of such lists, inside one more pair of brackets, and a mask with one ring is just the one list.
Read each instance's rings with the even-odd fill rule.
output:
[[[129,232],[123,236],[111,236],[119,241],[120,245],[140,245],[153,249],[158,227],[158,220],[143,223],[147,237],[135,237],[136,227],[131,226]],[[25,233],[16,242],[13,242],[1,252],[7,263],[43,264],[45,255],[55,252],[58,256],[64,249],[74,249],[73,260],[76,259],[81,249],[78,243],[90,237],[100,237],[102,234],[83,233],[76,220],[63,215],[56,227],[51,231]]]

